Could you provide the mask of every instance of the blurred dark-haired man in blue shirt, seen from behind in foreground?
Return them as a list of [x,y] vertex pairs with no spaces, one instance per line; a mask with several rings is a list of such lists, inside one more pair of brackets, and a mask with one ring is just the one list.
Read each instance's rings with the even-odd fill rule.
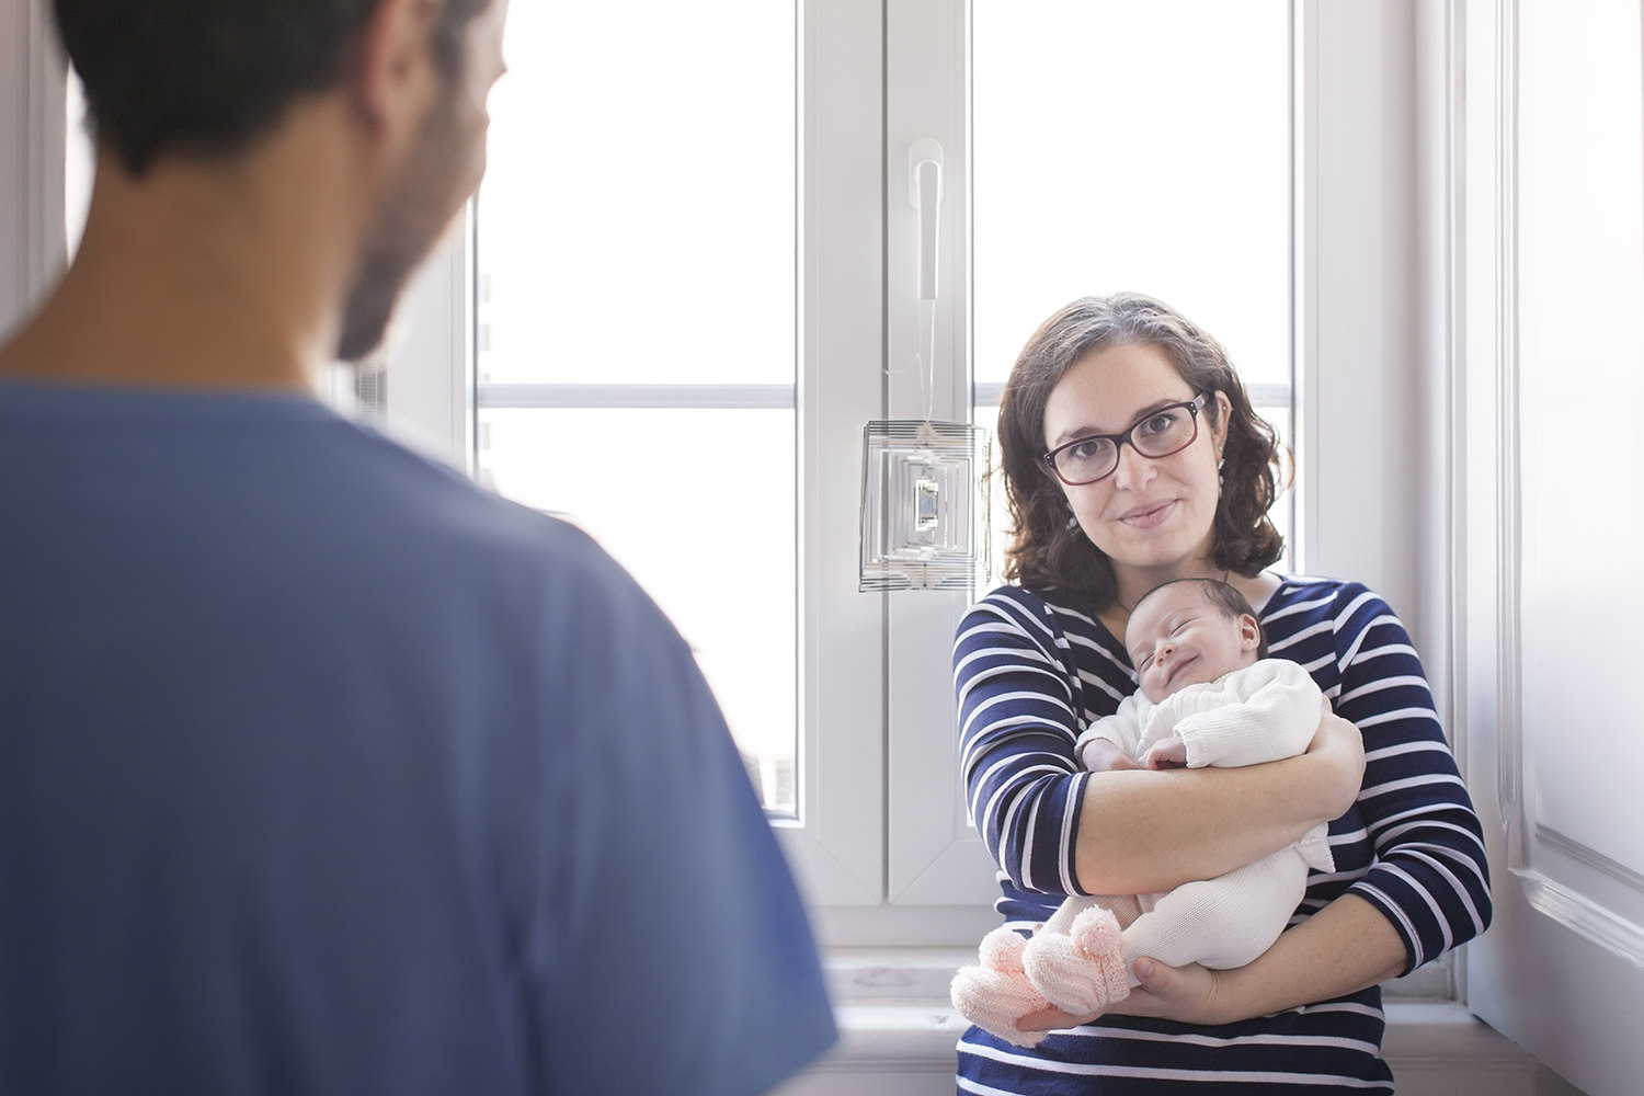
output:
[[778,1083],[834,1024],[690,651],[314,394],[483,174],[506,0],[56,13],[99,156],[0,347],[0,1091]]

